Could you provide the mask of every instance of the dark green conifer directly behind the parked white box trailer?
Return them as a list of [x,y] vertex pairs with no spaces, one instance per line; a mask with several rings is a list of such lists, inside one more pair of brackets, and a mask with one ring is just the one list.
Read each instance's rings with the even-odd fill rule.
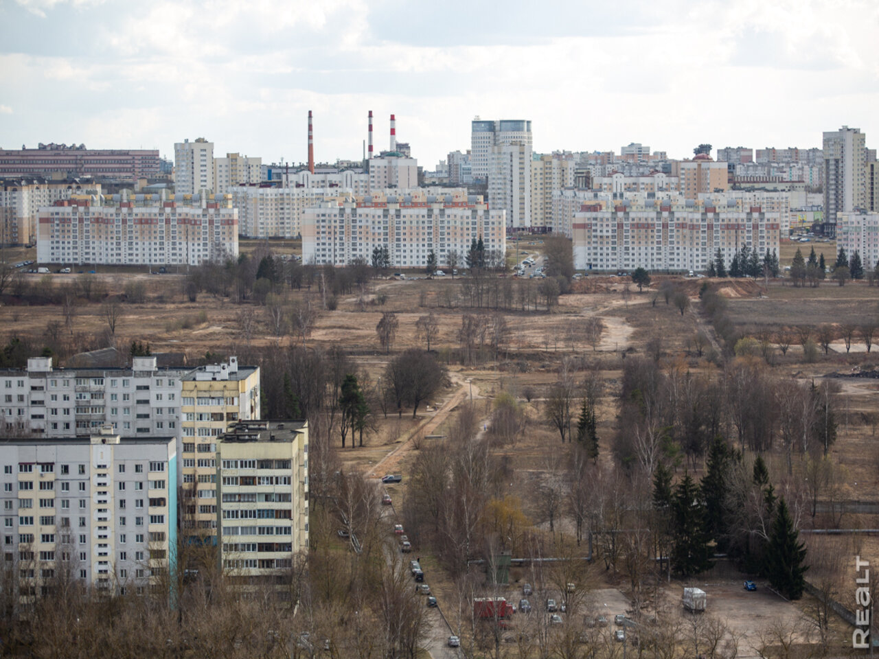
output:
[[705,532],[705,504],[690,474],[685,474],[675,489],[672,512],[672,569],[680,576],[698,575],[711,567],[712,552]]

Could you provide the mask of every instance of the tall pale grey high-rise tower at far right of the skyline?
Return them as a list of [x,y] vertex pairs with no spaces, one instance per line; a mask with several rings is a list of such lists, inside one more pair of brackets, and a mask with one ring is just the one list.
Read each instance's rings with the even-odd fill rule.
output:
[[825,222],[866,206],[866,140],[860,128],[843,126],[824,134]]

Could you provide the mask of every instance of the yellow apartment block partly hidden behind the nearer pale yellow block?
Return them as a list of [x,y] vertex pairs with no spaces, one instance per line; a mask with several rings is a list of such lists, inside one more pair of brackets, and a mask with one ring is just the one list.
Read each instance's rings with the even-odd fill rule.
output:
[[217,442],[239,421],[259,418],[259,369],[225,364],[200,366],[181,379],[182,513],[186,533],[214,537]]

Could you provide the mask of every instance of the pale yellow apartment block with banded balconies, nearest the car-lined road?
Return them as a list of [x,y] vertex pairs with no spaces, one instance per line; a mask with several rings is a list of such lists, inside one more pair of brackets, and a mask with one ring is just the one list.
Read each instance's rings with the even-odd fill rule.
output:
[[309,426],[235,424],[216,467],[220,566],[239,588],[290,597],[294,556],[309,547]]

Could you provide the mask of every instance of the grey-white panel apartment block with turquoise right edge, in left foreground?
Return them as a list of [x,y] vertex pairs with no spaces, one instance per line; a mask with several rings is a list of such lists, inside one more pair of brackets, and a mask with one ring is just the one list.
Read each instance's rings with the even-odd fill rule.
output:
[[122,438],[4,438],[4,569],[19,602],[58,579],[111,594],[167,588],[176,568],[177,442]]

